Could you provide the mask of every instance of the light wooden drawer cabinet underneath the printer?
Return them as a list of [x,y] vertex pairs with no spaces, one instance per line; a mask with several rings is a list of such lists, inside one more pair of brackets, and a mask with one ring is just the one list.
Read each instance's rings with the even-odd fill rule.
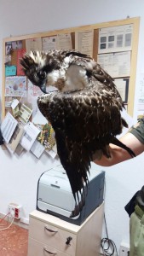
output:
[[30,214],[28,256],[98,256],[103,221],[102,203],[80,226],[53,215]]

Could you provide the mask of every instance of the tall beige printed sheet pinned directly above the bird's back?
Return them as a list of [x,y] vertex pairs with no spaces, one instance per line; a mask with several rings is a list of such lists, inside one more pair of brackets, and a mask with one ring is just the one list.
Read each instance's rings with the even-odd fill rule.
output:
[[86,54],[93,55],[94,30],[75,32],[75,49]]

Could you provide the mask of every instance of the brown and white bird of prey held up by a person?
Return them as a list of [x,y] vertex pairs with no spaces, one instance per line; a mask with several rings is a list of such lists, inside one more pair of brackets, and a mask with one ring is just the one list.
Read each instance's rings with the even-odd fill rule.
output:
[[[44,92],[37,105],[55,130],[57,152],[76,201],[71,217],[77,216],[89,193],[93,154],[110,158],[109,143],[113,143],[135,156],[117,138],[128,127],[121,116],[122,98],[111,76],[77,50],[31,51],[20,64],[32,84]],[[57,91],[47,93],[49,85]]]

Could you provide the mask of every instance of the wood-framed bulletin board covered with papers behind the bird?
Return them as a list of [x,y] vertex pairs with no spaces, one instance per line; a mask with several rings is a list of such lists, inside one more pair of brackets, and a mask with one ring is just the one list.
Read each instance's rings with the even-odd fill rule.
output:
[[[3,118],[12,112],[12,102],[37,111],[38,87],[28,81],[20,68],[20,57],[31,49],[78,49],[91,55],[109,73],[133,116],[135,73],[140,18],[115,20],[3,39]],[[32,115],[31,115],[32,120]]]

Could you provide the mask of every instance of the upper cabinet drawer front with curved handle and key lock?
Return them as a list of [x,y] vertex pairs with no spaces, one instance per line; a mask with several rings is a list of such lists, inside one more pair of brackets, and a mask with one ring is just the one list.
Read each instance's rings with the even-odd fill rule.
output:
[[[59,229],[51,224],[44,223],[37,218],[30,218],[29,236],[63,253],[72,254],[76,249],[76,235],[67,230]],[[70,244],[66,244],[68,238]]]

